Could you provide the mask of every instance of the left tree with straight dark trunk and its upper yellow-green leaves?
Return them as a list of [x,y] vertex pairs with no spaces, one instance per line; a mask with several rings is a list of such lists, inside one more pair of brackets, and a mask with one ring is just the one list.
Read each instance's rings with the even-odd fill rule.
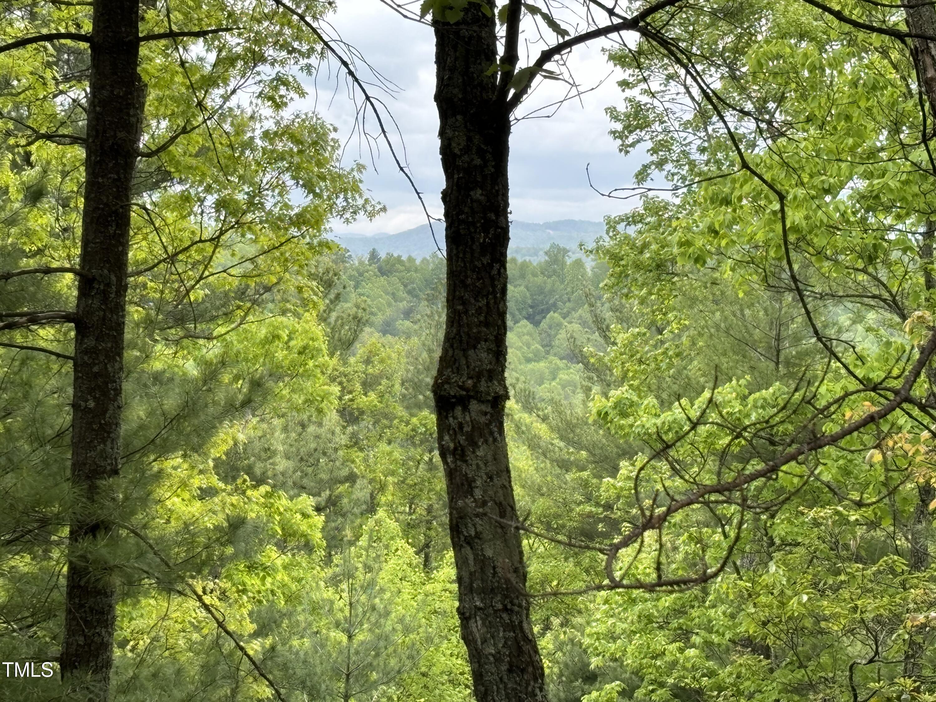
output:
[[[314,49],[297,50],[284,33],[276,34],[277,41],[269,41],[263,36],[265,22],[269,22],[266,18],[256,18],[258,21],[250,22],[249,29],[240,28],[246,41],[238,38],[226,45],[220,38],[232,31],[231,27],[217,26],[214,21],[250,18],[252,7],[225,7],[212,13],[212,8],[179,4],[174,8],[175,22],[181,20],[183,26],[189,22],[202,24],[182,31],[173,29],[168,7],[161,15],[146,4],[101,0],[95,2],[91,18],[85,4],[63,7],[56,9],[53,5],[51,10],[25,13],[27,20],[8,27],[9,31],[25,29],[25,37],[7,42],[0,47],[0,53],[6,56],[28,52],[31,61],[25,63],[23,72],[34,80],[21,84],[34,91],[31,96],[37,99],[33,103],[21,100],[3,119],[13,124],[7,132],[10,151],[23,154],[24,164],[35,163],[33,152],[39,150],[31,147],[37,143],[83,146],[83,192],[75,193],[65,208],[81,212],[80,260],[77,266],[7,271],[3,279],[72,274],[78,278],[76,308],[74,313],[28,308],[24,312],[5,312],[8,321],[0,329],[29,333],[32,329],[46,329],[49,324],[74,323],[72,354],[33,344],[4,345],[73,361],[70,535],[60,664],[63,679],[74,695],[103,699],[108,695],[122,578],[121,563],[115,562],[119,549],[117,518],[120,505],[132,503],[127,494],[121,494],[117,478],[122,466],[150,446],[177,418],[164,417],[167,425],[157,430],[150,441],[141,442],[142,446],[122,446],[128,287],[141,284],[142,291],[134,285],[137,295],[133,301],[153,313],[141,314],[134,321],[152,324],[154,337],[168,336],[170,330],[181,332],[171,340],[160,341],[215,340],[259,317],[271,299],[271,290],[298,261],[314,254],[311,244],[329,215],[345,205],[345,212],[358,212],[358,203],[363,200],[358,197],[358,169],[332,168],[336,144],[327,128],[308,117],[281,119],[283,96],[295,90],[295,81],[286,79],[281,69],[310,66],[307,62],[314,56]],[[8,7],[5,13],[17,18],[16,10]],[[87,25],[89,19],[90,35],[50,31],[58,24]],[[168,31],[140,36],[141,22],[157,29],[165,24]],[[205,27],[208,22],[212,23]],[[211,51],[185,58],[186,40],[211,41],[212,37],[219,37],[220,43],[213,44]],[[87,45],[90,58],[80,51],[77,55],[64,51],[48,59],[44,45],[62,41]],[[151,47],[162,44],[163,48],[144,51],[146,61],[141,62],[140,46],[144,42]],[[213,65],[206,64],[209,55]],[[86,58],[88,97],[84,101],[78,94],[84,88],[82,62]],[[156,95],[172,95],[159,105],[166,111],[154,115],[151,110],[151,119],[147,120],[147,85],[139,72],[160,64],[163,71],[148,78]],[[262,135],[250,132],[256,127],[245,127],[247,110],[231,109],[229,105],[261,65],[269,73],[252,86],[254,99],[257,108],[262,103],[271,110],[268,115],[273,115]],[[36,66],[35,72],[30,72]],[[59,92],[55,80],[60,72],[71,68],[76,68],[68,79],[72,82],[63,81],[66,87]],[[168,76],[184,77],[193,95],[179,91],[178,83],[168,88],[163,82]],[[46,90],[50,84],[53,87]],[[178,99],[180,95],[182,99]],[[62,103],[66,107],[56,110]],[[23,105],[27,107],[23,109]],[[177,120],[179,124],[173,124]],[[214,141],[212,124],[225,131],[227,143],[220,148]],[[47,125],[49,130],[44,131]],[[168,134],[163,134],[167,127]],[[144,131],[148,138],[164,138],[141,148]],[[23,135],[28,140],[18,143]],[[204,144],[198,143],[202,139],[211,144],[216,171],[193,168],[206,153]],[[286,149],[291,139],[307,142],[302,154],[296,154],[291,147]],[[225,146],[230,147],[227,154]],[[186,153],[184,147],[191,151]],[[201,153],[197,153],[199,149]],[[232,158],[236,161],[239,155],[264,151],[263,159],[256,163],[259,168],[241,170],[234,178],[227,174],[224,160],[229,167]],[[276,151],[283,158],[270,168],[277,160]],[[184,165],[180,168],[185,156],[193,159],[187,162],[187,171]],[[156,166],[152,166],[154,163]],[[190,186],[187,192],[178,188],[185,181]],[[317,201],[298,206],[287,203],[283,195],[291,197],[297,187]],[[10,195],[15,197],[12,191]],[[43,195],[37,194],[40,200]],[[68,195],[72,193],[68,191]],[[57,196],[65,199],[61,190]],[[148,196],[153,199],[141,201]],[[76,203],[80,203],[78,207]],[[131,215],[134,209],[139,213],[136,216]],[[262,213],[258,215],[256,210]],[[178,228],[173,230],[173,225]],[[131,247],[131,233],[139,235],[142,227],[151,228],[150,236],[136,238]],[[62,238],[68,233],[61,232]],[[51,240],[55,240],[54,235]],[[14,241],[32,242],[28,238]],[[303,244],[304,251],[294,254],[292,261],[280,257],[293,242]],[[47,243],[43,241],[38,250],[63,254]],[[25,250],[25,254],[35,256],[35,251]],[[64,253],[69,254],[67,250]],[[266,271],[256,268],[260,258],[272,261]],[[131,260],[139,262],[139,269],[130,270]],[[152,288],[146,289],[153,276],[167,272],[177,280],[178,298],[171,299],[170,286],[166,285],[154,298],[147,299],[147,294],[153,292]],[[218,285],[222,280],[236,284]]]

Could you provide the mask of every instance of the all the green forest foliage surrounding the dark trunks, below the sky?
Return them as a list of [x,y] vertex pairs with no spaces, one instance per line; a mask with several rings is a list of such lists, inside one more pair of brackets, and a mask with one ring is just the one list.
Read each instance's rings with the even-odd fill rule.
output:
[[[90,26],[80,3],[0,16],[2,42]],[[290,699],[467,702],[431,401],[445,262],[327,241],[380,209],[332,127],[290,107],[321,55],[299,25],[183,3],[147,5],[141,32],[169,22],[236,29],[143,44],[114,696],[270,699],[262,670]],[[876,411],[936,314],[901,43],[793,0],[680,7],[665,32],[693,51],[645,35],[608,54],[608,114],[648,154],[638,184],[670,192],[638,190],[585,259],[508,265],[507,430],[551,699],[934,699],[931,369],[913,407],[625,548],[611,570],[635,589],[596,587],[647,510]],[[0,270],[76,265],[87,61],[70,41],[0,53]],[[69,309],[74,289],[0,281],[5,311]],[[52,661],[71,334],[3,333],[0,654]]]

